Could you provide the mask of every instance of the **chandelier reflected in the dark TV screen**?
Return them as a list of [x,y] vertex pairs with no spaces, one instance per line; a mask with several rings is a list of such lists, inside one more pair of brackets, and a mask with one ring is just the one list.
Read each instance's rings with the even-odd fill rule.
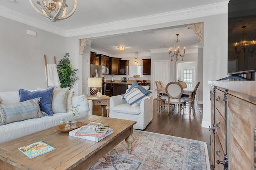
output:
[[[242,28],[244,29],[244,28],[246,28],[246,26],[242,26]],[[252,45],[252,50],[249,49],[250,44]],[[242,38],[240,41],[240,49],[237,50],[237,42],[236,42],[235,52],[236,52],[236,54],[240,54],[241,51],[243,50],[244,54],[245,54],[245,51],[247,49],[250,53],[254,53],[254,50],[255,50],[254,44],[255,44],[254,40],[252,40],[252,42],[250,43],[250,41],[248,39],[246,39],[245,33],[243,32],[243,35],[242,35]]]

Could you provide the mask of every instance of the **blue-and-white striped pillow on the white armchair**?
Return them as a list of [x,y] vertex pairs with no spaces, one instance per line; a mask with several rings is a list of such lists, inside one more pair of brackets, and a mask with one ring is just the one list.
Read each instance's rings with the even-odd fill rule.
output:
[[122,98],[126,100],[126,102],[130,106],[140,106],[140,101],[147,97],[145,94],[143,94],[137,86],[132,88],[129,92],[126,94],[122,95]]

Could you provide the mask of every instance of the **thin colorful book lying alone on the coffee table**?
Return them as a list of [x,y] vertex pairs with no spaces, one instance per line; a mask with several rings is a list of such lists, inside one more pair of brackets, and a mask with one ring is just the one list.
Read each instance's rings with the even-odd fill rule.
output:
[[24,147],[18,148],[22,153],[26,154],[30,158],[34,158],[46,152],[50,152],[56,148],[44,143],[42,141],[32,143],[30,145],[26,145]]

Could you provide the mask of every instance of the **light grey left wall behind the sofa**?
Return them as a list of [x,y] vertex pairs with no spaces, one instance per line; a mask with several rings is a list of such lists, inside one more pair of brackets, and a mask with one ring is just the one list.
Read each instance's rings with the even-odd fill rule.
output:
[[66,38],[4,17],[0,23],[0,91],[46,88],[44,54],[48,64],[53,56],[58,64],[66,54]]

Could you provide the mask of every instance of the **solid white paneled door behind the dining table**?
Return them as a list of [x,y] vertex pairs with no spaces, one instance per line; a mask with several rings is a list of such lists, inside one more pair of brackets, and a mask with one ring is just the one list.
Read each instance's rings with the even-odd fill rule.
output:
[[162,81],[164,83],[164,86],[166,86],[170,81],[169,77],[170,77],[170,61],[169,60],[154,61],[154,77],[153,77],[153,82],[151,82],[151,87],[153,87],[153,95],[155,99],[157,98],[155,82]]

